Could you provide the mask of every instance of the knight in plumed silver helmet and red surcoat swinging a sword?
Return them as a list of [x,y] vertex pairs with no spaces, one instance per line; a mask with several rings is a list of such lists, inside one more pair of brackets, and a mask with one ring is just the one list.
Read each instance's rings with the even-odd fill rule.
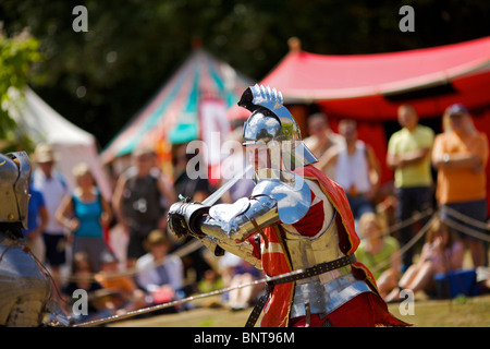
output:
[[[359,238],[345,193],[311,166],[317,159],[282,103],[281,93],[258,85],[238,101],[252,111],[243,131],[255,168],[250,196],[210,207],[177,202],[169,210],[170,229],[196,237],[215,255],[234,253],[272,279],[293,275],[268,282],[264,327],[406,326],[356,261]],[[260,312],[256,306],[248,326]]]

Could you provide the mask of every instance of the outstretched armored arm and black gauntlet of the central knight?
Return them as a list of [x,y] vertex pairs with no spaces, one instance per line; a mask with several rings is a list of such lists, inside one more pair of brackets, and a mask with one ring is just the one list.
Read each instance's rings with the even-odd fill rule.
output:
[[270,178],[260,180],[249,198],[240,198],[234,204],[209,207],[175,203],[169,210],[169,227],[177,236],[192,233],[215,255],[226,250],[259,267],[254,245],[247,239],[279,221],[294,224],[309,209],[309,186],[301,177],[290,176],[289,183]]

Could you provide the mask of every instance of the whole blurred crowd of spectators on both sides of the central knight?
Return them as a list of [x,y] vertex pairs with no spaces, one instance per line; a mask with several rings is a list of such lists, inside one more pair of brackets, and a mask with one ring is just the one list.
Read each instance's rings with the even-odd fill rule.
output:
[[[402,289],[430,293],[437,273],[463,267],[465,246],[474,267],[488,266],[488,239],[468,234],[464,228],[476,229],[485,237],[488,232],[454,215],[457,212],[481,225],[487,220],[488,140],[475,129],[463,105],[446,109],[444,130],[438,135],[419,124],[412,106],[401,106],[401,130],[390,137],[385,159],[377,158],[372,147],[358,139],[354,120],[341,120],[339,133],[332,131],[323,113],[311,115],[307,121],[309,136],[305,144],[319,159],[315,166],[343,186],[362,238],[357,258],[372,270],[387,301],[399,300]],[[234,134],[241,134],[240,130]],[[63,301],[68,313],[72,313],[76,289],[89,293],[88,315],[77,315],[77,320],[133,311],[262,277],[232,256],[217,264],[201,250],[181,256],[173,253],[192,239],[180,241],[168,231],[169,206],[179,194],[201,202],[213,186],[206,179],[188,177],[187,163],[194,154],[186,154],[185,145],[176,145],[172,155],[171,178],[158,169],[151,149],[137,149],[134,166],[119,176],[109,200],[101,195],[87,164],[73,168],[76,188],[71,191],[56,171],[57,158],[49,145],[38,145],[33,154],[36,166],[25,240],[37,258],[49,266],[61,293],[54,296]],[[380,209],[377,195],[381,160],[394,171],[390,198],[393,221],[401,228],[393,232],[387,232],[390,219]],[[226,161],[223,168],[237,168],[231,164],[234,159]],[[236,186],[240,191],[226,193],[223,202],[234,202],[253,188],[249,180],[241,185]],[[415,225],[403,225],[414,214],[436,208],[440,215],[434,218],[426,215]],[[454,228],[454,222],[460,228]],[[123,267],[108,238],[114,225],[127,234]],[[417,228],[428,225],[425,243],[413,243]],[[63,277],[61,268],[66,265],[69,276]],[[260,290],[259,285],[230,292],[230,308],[249,306]],[[182,309],[185,306],[167,311]]]

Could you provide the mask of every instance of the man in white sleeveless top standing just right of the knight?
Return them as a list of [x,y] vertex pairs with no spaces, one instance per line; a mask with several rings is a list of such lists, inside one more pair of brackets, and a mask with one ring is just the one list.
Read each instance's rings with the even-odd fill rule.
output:
[[343,119],[339,134],[345,142],[333,146],[321,156],[317,167],[323,171],[333,167],[335,181],[344,189],[354,218],[358,220],[367,212],[375,212],[381,169],[372,148],[357,139],[357,123]]

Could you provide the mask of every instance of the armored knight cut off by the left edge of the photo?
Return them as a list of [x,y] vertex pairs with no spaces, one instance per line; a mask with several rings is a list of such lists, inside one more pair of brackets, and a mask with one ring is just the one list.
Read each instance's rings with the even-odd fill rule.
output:
[[39,326],[51,281],[22,243],[27,228],[30,161],[25,152],[0,154],[0,326]]

